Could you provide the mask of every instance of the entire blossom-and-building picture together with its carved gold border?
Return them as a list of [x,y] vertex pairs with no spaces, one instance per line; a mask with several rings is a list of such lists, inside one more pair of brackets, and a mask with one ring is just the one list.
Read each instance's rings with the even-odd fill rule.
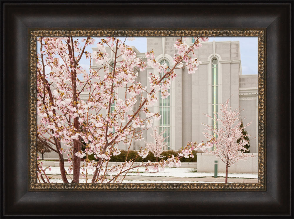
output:
[[29,29],[31,190],[266,189],[265,30],[64,31]]

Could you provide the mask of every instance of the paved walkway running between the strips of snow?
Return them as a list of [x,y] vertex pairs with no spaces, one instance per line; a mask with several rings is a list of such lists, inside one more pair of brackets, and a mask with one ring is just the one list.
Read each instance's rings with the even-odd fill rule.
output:
[[[48,175],[52,179],[60,179],[61,175]],[[68,179],[70,177],[66,176]],[[71,176],[72,177],[72,176]],[[85,179],[86,177],[80,176],[80,179]],[[93,175],[88,175],[88,179],[92,179]],[[158,183],[160,181],[183,181],[185,182],[218,182],[224,183],[225,177],[162,177],[162,176],[126,176],[125,180],[156,180]],[[247,178],[228,178],[228,183],[258,183],[258,179],[247,179]]]

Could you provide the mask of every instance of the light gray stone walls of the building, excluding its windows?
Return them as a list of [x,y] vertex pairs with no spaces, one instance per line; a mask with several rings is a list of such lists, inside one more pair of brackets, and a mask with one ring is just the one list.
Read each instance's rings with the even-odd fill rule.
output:
[[[148,37],[147,51],[152,49],[157,61],[166,59],[172,67],[172,57],[176,54],[173,44],[176,39],[176,37]],[[191,39],[187,39],[187,41],[191,42]],[[138,51],[137,54],[140,57],[144,57],[144,54],[140,54]],[[195,74],[188,74],[186,69],[176,69],[175,72],[177,73],[177,77],[171,85],[170,149],[178,150],[181,147],[186,146],[188,141],[206,141],[202,134],[204,126],[201,125],[201,123],[211,123],[211,121],[203,114],[212,114],[210,106],[212,95],[210,74],[211,60],[213,57],[218,58],[219,61],[218,103],[224,103],[230,98],[232,109],[238,108],[241,105],[241,107],[246,108],[245,111],[242,111],[244,114],[242,114],[242,116],[245,116],[248,119],[252,119],[256,116],[256,113],[253,112],[256,108],[250,108],[252,104],[249,105],[249,103],[243,103],[243,100],[243,102],[239,100],[239,88],[257,86],[257,78],[249,77],[245,78],[245,81],[241,78],[242,72],[239,42],[206,42],[202,44],[202,47],[195,51],[195,54],[196,57],[202,61],[202,64],[198,67],[198,71],[196,71]],[[150,68],[139,73],[138,80],[141,81],[143,85],[149,86],[147,77],[149,76],[148,72],[150,71],[152,73],[157,73]],[[158,96],[158,98],[160,98],[160,96]],[[172,98],[174,101],[172,101]],[[159,111],[159,106],[153,107],[153,112],[157,111]],[[249,115],[247,115],[247,112]],[[256,121],[253,121],[253,123],[256,124]],[[154,125],[158,125],[158,123],[154,123]],[[248,127],[248,132],[256,131],[256,128],[253,126],[254,124],[252,124],[252,130]],[[152,133],[151,129],[143,131],[144,140],[141,142],[132,142],[131,148],[138,150],[140,147],[145,146],[145,141],[153,141],[150,133]],[[256,142],[250,142],[250,144],[252,145],[251,151],[256,152]],[[126,147],[121,144],[119,144],[119,148],[126,149]]]

